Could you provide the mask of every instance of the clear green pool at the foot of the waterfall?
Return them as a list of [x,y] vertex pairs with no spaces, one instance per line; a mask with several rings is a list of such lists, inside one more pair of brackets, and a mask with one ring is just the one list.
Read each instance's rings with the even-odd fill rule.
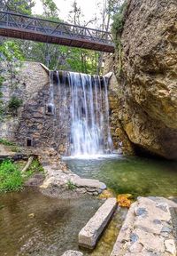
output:
[[116,155],[95,159],[66,158],[65,162],[81,177],[103,181],[115,194],[177,197],[175,162]]

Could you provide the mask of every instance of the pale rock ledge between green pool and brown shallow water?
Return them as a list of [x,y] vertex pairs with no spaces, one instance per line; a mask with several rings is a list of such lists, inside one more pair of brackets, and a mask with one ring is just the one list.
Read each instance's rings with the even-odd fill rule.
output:
[[[40,188],[48,196],[73,197],[89,194],[97,196],[106,188],[103,182],[92,179],[81,179],[71,172],[62,162],[61,156],[53,148],[33,148],[28,154],[38,156],[45,172]],[[28,183],[35,183],[32,178]]]

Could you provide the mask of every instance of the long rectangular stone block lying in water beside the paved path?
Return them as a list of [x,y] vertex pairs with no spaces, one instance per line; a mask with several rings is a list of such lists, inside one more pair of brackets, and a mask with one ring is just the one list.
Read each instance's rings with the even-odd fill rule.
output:
[[93,249],[104,228],[112,218],[117,207],[116,198],[108,198],[97,210],[95,215],[89,220],[79,233],[79,244],[82,247]]

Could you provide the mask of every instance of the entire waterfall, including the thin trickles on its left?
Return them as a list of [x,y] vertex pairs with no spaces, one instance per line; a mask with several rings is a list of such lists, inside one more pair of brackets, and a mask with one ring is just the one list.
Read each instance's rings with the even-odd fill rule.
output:
[[[64,71],[57,71],[56,76],[59,93],[58,124],[61,131],[66,130],[64,137],[67,137],[65,144],[69,148],[67,155],[96,156],[112,153],[108,82],[105,77]],[[52,89],[53,78],[50,83]]]

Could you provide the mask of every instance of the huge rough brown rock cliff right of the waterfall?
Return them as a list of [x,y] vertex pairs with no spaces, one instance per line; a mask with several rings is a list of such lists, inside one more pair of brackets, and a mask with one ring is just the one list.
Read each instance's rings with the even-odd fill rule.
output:
[[177,1],[129,0],[125,18],[118,133],[135,149],[177,159]]

